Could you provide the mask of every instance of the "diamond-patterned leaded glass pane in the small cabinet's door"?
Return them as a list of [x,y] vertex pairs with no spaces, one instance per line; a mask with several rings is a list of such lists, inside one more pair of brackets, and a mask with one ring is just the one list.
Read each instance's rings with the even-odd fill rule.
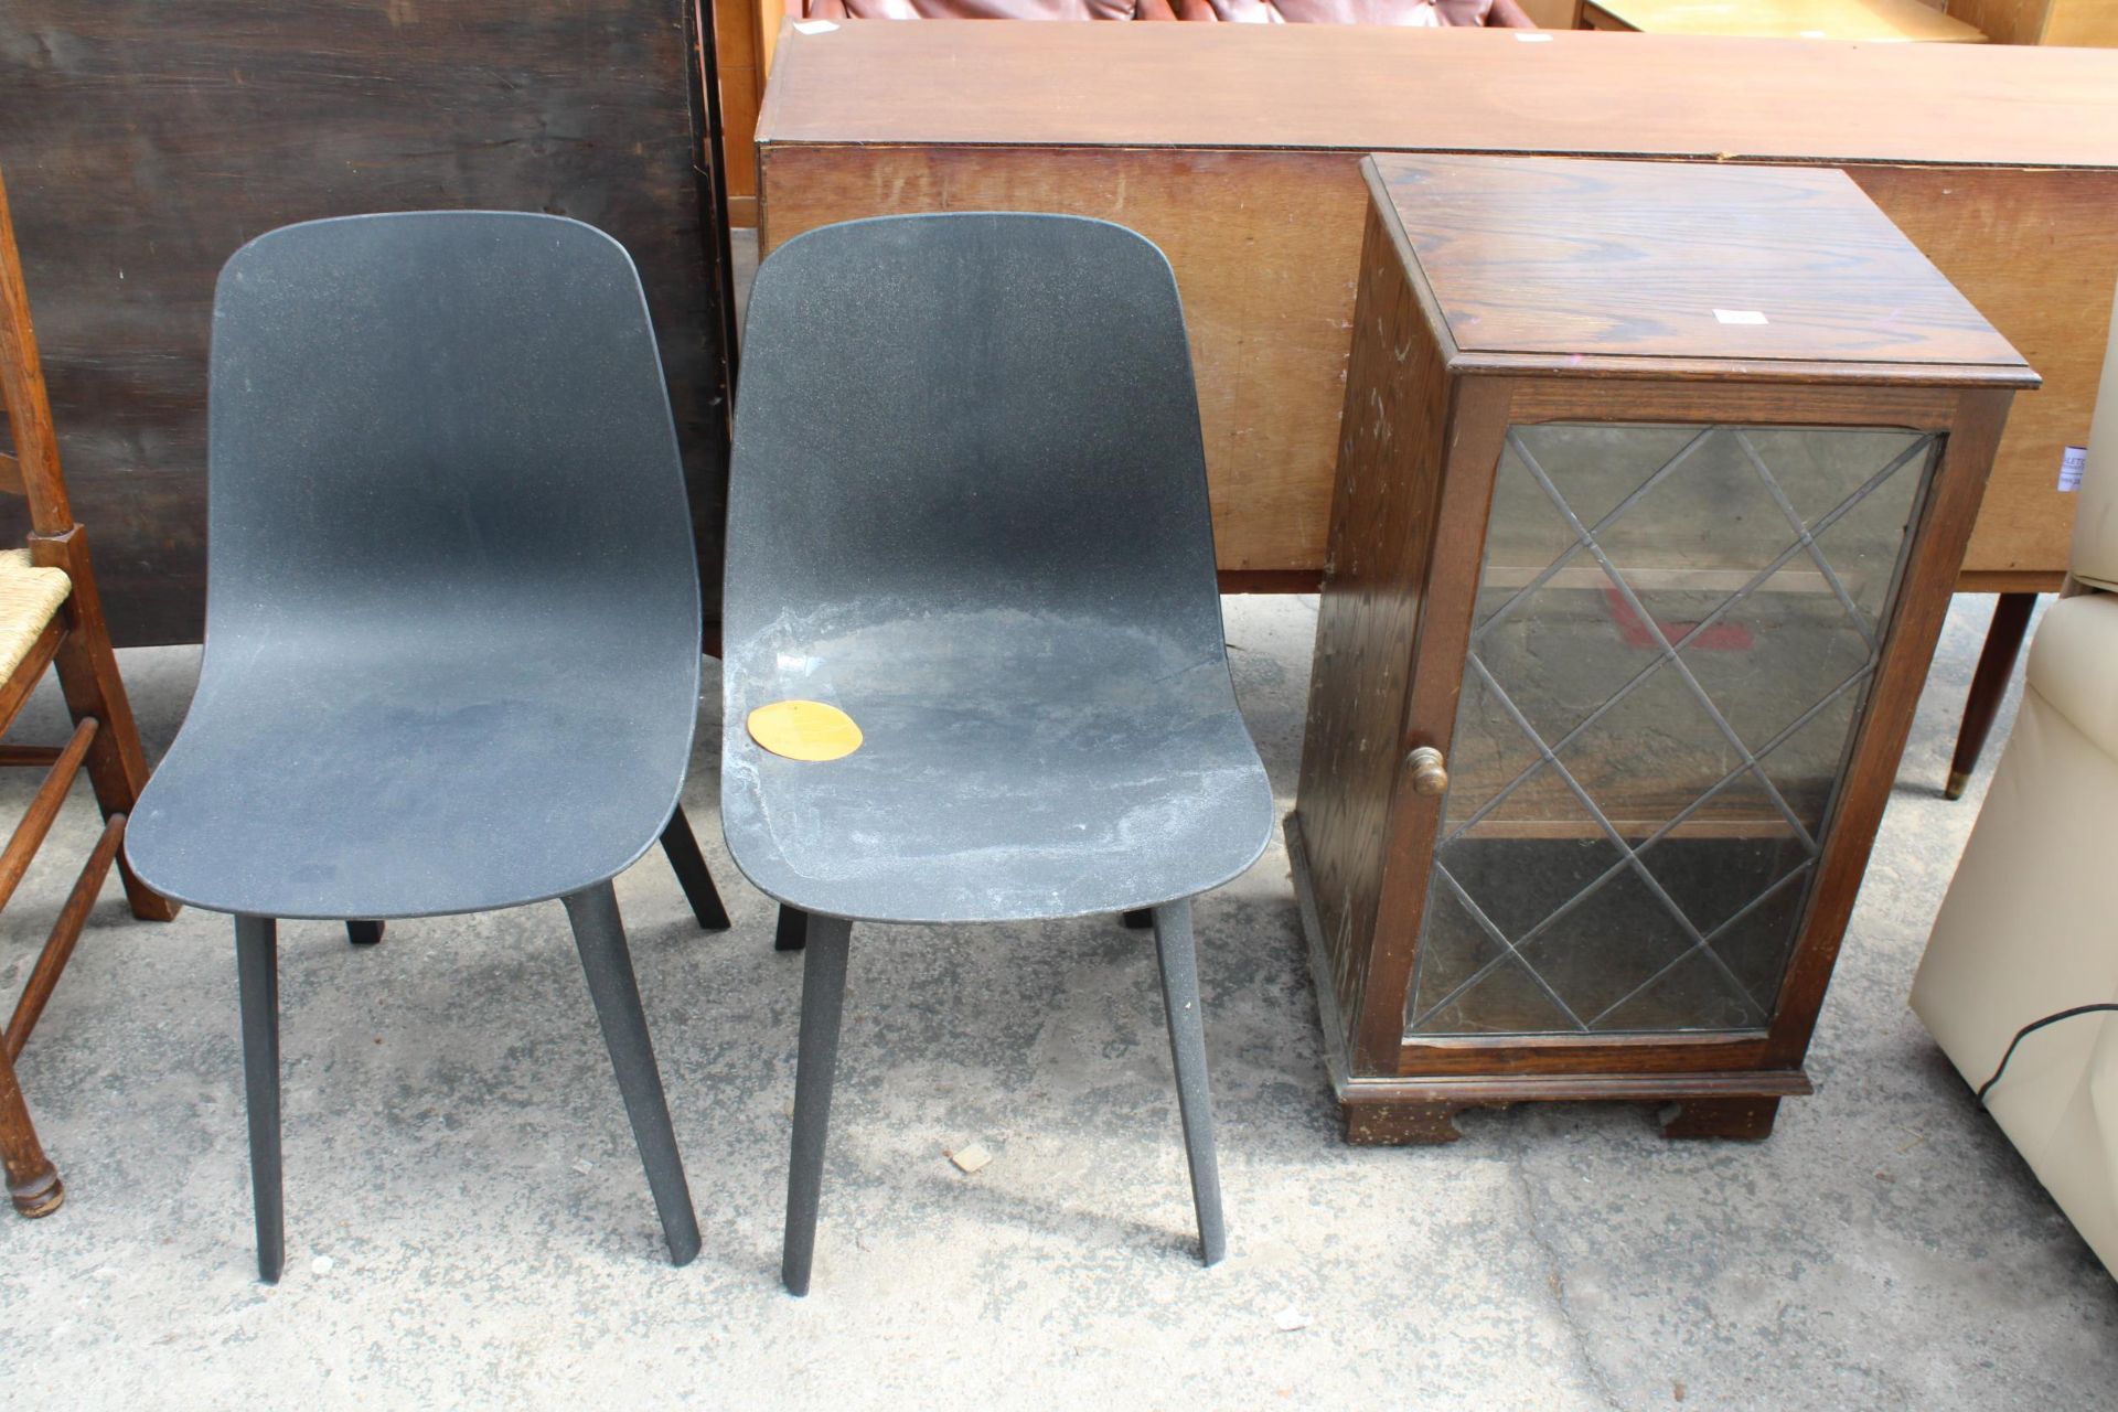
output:
[[1766,1029],[1940,442],[1508,430],[1408,1042]]

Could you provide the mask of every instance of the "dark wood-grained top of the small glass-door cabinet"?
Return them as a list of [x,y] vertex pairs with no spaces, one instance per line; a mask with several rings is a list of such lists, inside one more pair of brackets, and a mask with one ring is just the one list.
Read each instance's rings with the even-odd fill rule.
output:
[[1843,171],[1442,155],[1362,169],[1459,362],[2038,385]]

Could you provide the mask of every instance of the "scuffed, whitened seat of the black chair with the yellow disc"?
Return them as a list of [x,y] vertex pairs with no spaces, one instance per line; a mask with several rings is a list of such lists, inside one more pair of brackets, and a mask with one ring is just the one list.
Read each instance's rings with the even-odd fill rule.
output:
[[[1019,921],[1203,893],[1264,851],[1273,794],[1211,648],[1112,620],[957,612],[731,650],[722,828],[805,912]],[[864,743],[784,760],[750,709],[813,699]]]

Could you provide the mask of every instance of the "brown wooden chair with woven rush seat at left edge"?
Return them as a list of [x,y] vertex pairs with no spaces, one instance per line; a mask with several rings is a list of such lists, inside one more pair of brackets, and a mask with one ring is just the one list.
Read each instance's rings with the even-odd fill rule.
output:
[[146,758],[140,754],[140,732],[133,728],[125,684],[119,682],[116,656],[110,652],[102,597],[89,569],[87,531],[74,523],[66,481],[59,476],[59,445],[36,358],[36,334],[30,328],[30,301],[4,182],[0,182],[0,394],[13,438],[11,449],[0,451],[0,491],[21,495],[30,508],[28,546],[0,553],[0,730],[13,728],[49,667],[57,667],[66,709],[74,718],[74,732],[66,745],[0,745],[0,766],[49,766],[44,783],[30,800],[30,811],[0,849],[0,908],[15,895],[83,766],[104,811],[104,832],[30,970],[0,1042],[0,1154],[6,1158],[6,1185],[15,1209],[34,1217],[57,1211],[66,1200],[66,1188],[36,1139],[21,1086],[15,1082],[15,1058],[21,1056],[30,1029],[44,1012],[59,972],[80,940],[80,927],[112,862],[125,879],[133,917],[169,921],[176,917],[176,904],[140,883],[121,857],[125,815],[146,783]]

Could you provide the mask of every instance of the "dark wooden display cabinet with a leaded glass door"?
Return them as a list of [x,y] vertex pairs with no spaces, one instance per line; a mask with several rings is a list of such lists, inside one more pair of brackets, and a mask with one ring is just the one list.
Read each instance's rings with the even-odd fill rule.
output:
[[1347,1135],[1764,1137],[2038,379],[1838,171],[1362,169],[1288,819]]

